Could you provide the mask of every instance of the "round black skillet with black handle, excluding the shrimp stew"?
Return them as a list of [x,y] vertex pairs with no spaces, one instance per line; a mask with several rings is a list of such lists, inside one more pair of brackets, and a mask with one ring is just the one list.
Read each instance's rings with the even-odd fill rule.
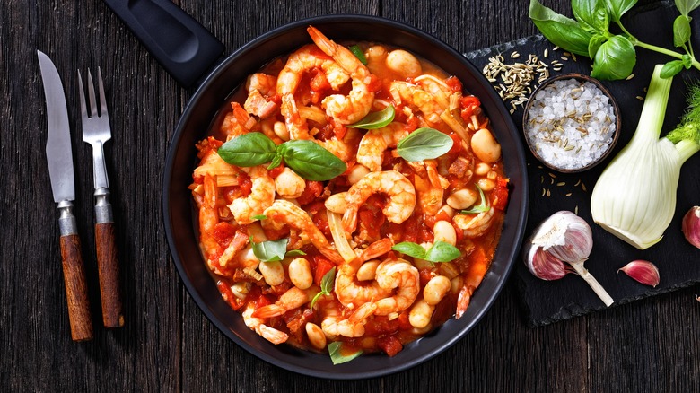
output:
[[[206,74],[221,53],[221,43],[169,0],[106,2],[142,39],[153,56],[184,86]],[[128,4],[125,4],[128,3]],[[150,25],[155,22],[156,25]],[[459,77],[464,88],[477,95],[486,110],[496,138],[503,147],[505,172],[511,180],[501,242],[483,283],[474,293],[464,316],[448,320],[428,336],[405,346],[394,357],[367,354],[353,362],[333,365],[328,354],[316,354],[291,345],[272,345],[243,324],[216,288],[197,246],[196,214],[188,185],[192,181],[194,145],[223,108],[227,98],[272,58],[287,55],[310,43],[306,28],[313,25],[331,39],[381,41],[406,48]],[[152,27],[155,29],[151,30]],[[175,42],[172,37],[179,37]],[[159,39],[166,39],[161,42]],[[184,42],[186,48],[175,45]],[[199,54],[199,50],[203,54]],[[174,55],[174,56],[173,56]],[[165,231],[175,266],[197,305],[223,334],[260,359],[289,371],[329,379],[362,379],[406,370],[442,353],[477,324],[500,293],[519,258],[528,205],[524,149],[508,110],[482,74],[442,41],[415,28],[374,16],[328,15],[293,22],[250,41],[206,74],[188,102],[172,137],[163,177]],[[494,339],[497,339],[494,337]]]

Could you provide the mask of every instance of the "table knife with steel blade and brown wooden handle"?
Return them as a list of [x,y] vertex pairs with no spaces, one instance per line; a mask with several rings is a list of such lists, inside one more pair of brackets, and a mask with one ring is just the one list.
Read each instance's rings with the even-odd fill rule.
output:
[[41,68],[41,80],[44,83],[44,96],[46,97],[48,120],[46,156],[51,189],[54,201],[58,204],[58,230],[61,233],[61,259],[63,260],[63,277],[66,284],[68,319],[74,341],[86,341],[92,339],[92,320],[85,285],[80,238],[73,214],[75,181],[66,94],[56,65],[40,50],[37,50],[37,53]]

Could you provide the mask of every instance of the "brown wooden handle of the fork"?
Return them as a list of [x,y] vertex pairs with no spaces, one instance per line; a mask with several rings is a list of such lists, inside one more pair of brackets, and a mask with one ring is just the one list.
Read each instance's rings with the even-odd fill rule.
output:
[[114,223],[95,224],[95,245],[100,275],[102,322],[105,327],[123,327],[124,310],[121,302]]

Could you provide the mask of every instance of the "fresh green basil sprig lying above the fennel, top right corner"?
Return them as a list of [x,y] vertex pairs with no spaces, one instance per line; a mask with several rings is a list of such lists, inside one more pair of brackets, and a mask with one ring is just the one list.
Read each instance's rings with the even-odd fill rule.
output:
[[[678,74],[683,68],[696,67],[700,70],[700,62],[696,60],[691,48],[691,18],[688,16],[688,13],[700,6],[700,0],[676,0],[680,15],[673,22],[673,44],[685,53],[644,43],[626,31],[620,19],[636,3],[637,0],[572,0],[575,19],[571,19],[547,8],[538,0],[530,0],[529,18],[556,46],[577,55],[591,57],[591,76],[598,79],[625,79],[632,74],[636,64],[634,47],[676,58],[662,68],[661,77]],[[611,33],[610,22],[615,22],[622,33]]]

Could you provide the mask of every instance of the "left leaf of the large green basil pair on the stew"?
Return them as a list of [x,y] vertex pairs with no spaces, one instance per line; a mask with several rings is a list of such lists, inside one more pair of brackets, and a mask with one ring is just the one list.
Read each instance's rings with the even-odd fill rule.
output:
[[261,133],[236,136],[222,144],[216,153],[223,161],[240,167],[254,167],[275,158],[276,144]]

